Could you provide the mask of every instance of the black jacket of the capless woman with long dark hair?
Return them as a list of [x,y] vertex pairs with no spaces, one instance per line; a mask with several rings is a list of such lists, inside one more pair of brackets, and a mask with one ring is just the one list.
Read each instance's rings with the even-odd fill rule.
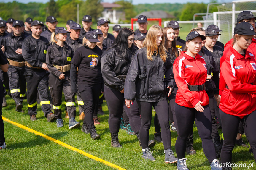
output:
[[115,48],[110,48],[101,56],[101,73],[106,88],[121,91],[125,84],[117,76],[127,75],[131,64],[130,59],[124,60],[117,56]]

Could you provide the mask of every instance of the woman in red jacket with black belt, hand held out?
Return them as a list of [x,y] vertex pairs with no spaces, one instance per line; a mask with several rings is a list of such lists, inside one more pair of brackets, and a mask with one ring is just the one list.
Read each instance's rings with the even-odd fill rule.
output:
[[209,79],[211,76],[207,75],[206,63],[203,57],[198,54],[202,48],[202,40],[205,40],[205,36],[198,32],[189,33],[186,38],[187,51],[181,53],[174,61],[173,66],[174,78],[178,86],[175,99],[175,115],[179,129],[175,144],[178,170],[187,169],[186,141],[194,121],[211,169],[221,170],[211,137],[212,118],[208,105],[209,97],[204,90],[206,78]]

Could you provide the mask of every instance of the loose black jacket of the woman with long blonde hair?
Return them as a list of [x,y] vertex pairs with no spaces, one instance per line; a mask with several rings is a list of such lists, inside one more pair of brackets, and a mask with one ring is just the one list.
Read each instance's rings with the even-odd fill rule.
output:
[[[166,62],[169,59],[166,59]],[[141,48],[131,61],[125,79],[124,98],[141,102],[158,102],[167,98],[166,86],[170,86],[171,64],[165,64],[157,54],[153,61],[147,59],[147,49]],[[164,80],[164,76],[165,80]]]

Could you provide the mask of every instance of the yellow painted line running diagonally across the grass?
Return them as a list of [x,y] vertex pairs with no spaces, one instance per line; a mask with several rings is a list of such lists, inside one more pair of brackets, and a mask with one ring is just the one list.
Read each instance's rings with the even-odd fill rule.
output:
[[70,146],[70,145],[67,145],[66,143],[63,143],[63,142],[61,142],[61,141],[59,141],[59,140],[56,140],[56,139],[54,139],[54,138],[52,138],[52,137],[46,136],[46,135],[44,135],[44,134],[42,134],[42,133],[40,133],[40,132],[37,132],[37,131],[35,131],[35,130],[33,130],[33,129],[30,129],[30,128],[26,127],[26,126],[23,126],[22,124],[19,124],[19,123],[16,123],[16,122],[11,121],[11,120],[9,120],[9,119],[6,119],[6,118],[3,117],[3,116],[2,116],[2,118],[3,118],[4,121],[9,122],[9,123],[11,123],[11,124],[14,124],[15,126],[18,126],[18,127],[20,127],[21,129],[25,129],[25,130],[27,130],[28,132],[31,132],[31,133],[34,133],[34,134],[36,134],[36,135],[42,136],[42,137],[44,137],[45,139],[51,140],[51,141],[53,141],[53,142],[55,142],[55,143],[58,143],[59,145],[65,147],[65,148],[68,148],[68,149],[70,149],[70,150],[74,150],[74,151],[76,151],[76,152],[78,152],[78,153],[80,153],[80,154],[82,154],[82,155],[84,155],[84,156],[86,156],[86,157],[88,157],[88,158],[94,159],[95,161],[99,161],[99,162],[101,162],[101,163],[103,163],[103,164],[105,164],[105,165],[107,165],[107,166],[111,166],[111,167],[113,167],[113,168],[115,168],[115,169],[126,170],[126,169],[121,168],[120,166],[117,166],[117,165],[113,164],[113,163],[110,163],[110,162],[108,162],[108,161],[105,161],[105,160],[103,160],[103,159],[101,159],[101,158],[98,158],[98,157],[93,156],[93,155],[91,155],[91,154],[89,154],[89,153],[86,153],[86,152],[84,152],[84,151],[82,151],[82,150],[79,150],[79,149],[74,148],[74,147],[72,147],[72,146]]

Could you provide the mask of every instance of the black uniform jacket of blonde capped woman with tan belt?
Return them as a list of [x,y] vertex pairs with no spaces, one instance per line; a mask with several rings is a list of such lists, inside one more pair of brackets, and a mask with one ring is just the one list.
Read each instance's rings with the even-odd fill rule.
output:
[[56,77],[59,77],[62,72],[55,68],[53,64],[58,66],[71,64],[71,59],[73,55],[73,50],[65,42],[63,47],[57,45],[56,43],[50,45],[47,49],[46,54],[46,64],[49,69],[49,72],[55,75]]

